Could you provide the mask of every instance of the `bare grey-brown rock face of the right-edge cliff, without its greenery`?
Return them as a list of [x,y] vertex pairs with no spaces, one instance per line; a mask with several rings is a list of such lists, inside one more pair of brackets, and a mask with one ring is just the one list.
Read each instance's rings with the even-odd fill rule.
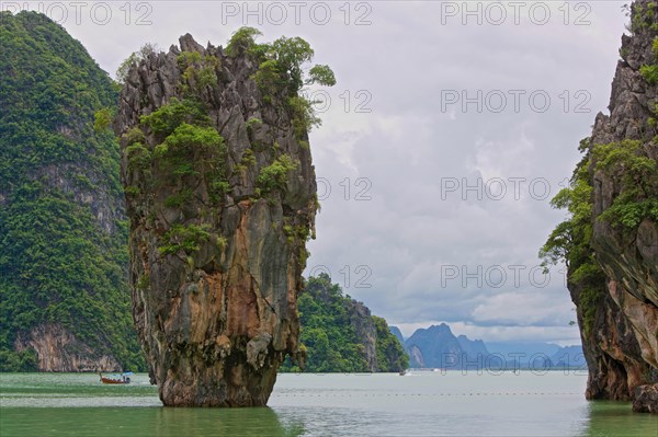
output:
[[[640,141],[637,156],[654,162],[658,159],[654,119],[658,90],[646,72],[640,72],[643,66],[657,61],[655,7],[655,2],[645,0],[633,5],[633,35],[622,37],[622,60],[612,82],[610,115],[598,114],[589,141],[590,151],[595,145],[637,140]],[[603,292],[592,330],[582,332],[590,368],[589,399],[627,400],[636,387],[658,382],[657,223],[644,218],[638,226],[628,229],[600,217],[629,185],[639,184],[639,181],[629,184],[624,179],[626,171],[629,169],[601,170],[595,153],[590,158],[594,216],[591,245],[605,278],[600,284]],[[645,198],[658,198],[656,182],[644,184]],[[570,284],[569,288],[582,326],[582,290],[577,284]]]

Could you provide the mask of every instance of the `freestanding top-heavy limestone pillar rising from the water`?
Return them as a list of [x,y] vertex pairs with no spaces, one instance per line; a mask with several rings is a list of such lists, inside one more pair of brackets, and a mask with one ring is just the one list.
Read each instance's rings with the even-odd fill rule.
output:
[[[185,35],[134,67],[121,94],[133,315],[166,405],[264,405],[298,354],[316,180],[306,131],[283,97],[261,93],[258,68]],[[140,123],[183,101],[204,113],[198,143],[180,120],[179,142]],[[207,146],[207,128],[223,142]]]

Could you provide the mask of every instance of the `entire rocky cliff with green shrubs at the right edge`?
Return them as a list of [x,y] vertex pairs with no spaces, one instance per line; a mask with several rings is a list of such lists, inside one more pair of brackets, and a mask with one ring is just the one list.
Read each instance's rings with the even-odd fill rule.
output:
[[629,18],[610,115],[597,115],[571,186],[553,199],[570,218],[542,255],[568,267],[587,398],[658,412],[658,4],[637,0]]

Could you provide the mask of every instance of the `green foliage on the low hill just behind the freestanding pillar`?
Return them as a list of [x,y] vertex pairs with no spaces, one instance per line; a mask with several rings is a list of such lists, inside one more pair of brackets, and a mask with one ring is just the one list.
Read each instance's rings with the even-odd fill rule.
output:
[[[327,274],[309,277],[297,299],[300,343],[306,349],[306,371],[361,372],[368,371],[363,338],[359,338],[350,320],[354,302],[344,297]],[[384,319],[373,317],[376,329],[376,355],[379,371],[407,368],[408,357]],[[283,371],[298,370],[286,361]]]

